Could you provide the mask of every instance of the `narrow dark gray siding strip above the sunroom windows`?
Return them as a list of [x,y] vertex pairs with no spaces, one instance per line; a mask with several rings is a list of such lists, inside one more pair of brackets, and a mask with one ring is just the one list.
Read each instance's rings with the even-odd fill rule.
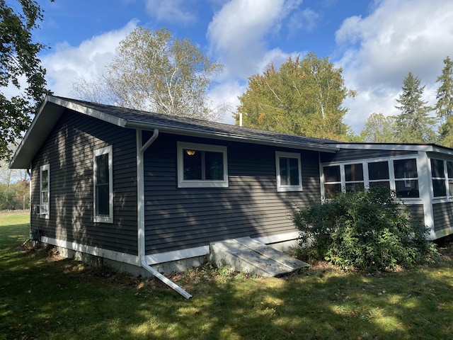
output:
[[321,163],[348,162],[357,159],[373,159],[418,154],[413,150],[386,150],[386,149],[340,149],[336,154],[321,154]]

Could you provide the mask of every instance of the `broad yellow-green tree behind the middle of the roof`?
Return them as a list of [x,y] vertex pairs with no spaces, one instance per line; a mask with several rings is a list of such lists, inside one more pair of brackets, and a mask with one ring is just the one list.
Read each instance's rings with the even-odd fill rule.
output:
[[314,53],[303,60],[290,57],[278,71],[271,64],[262,75],[248,78],[236,124],[242,114],[243,125],[251,128],[345,140],[343,117],[348,109],[342,103],[355,92],[346,89],[342,72]]

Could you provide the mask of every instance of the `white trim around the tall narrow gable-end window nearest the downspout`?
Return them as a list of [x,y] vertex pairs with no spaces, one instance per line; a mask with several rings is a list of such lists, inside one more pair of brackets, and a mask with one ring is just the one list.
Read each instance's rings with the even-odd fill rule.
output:
[[[109,215],[108,216],[97,216],[96,211],[96,157],[103,154],[108,154],[108,205],[109,205]],[[96,149],[93,151],[93,221],[94,222],[104,222],[104,223],[113,223],[113,147],[109,145],[108,147],[103,147],[101,149]]]

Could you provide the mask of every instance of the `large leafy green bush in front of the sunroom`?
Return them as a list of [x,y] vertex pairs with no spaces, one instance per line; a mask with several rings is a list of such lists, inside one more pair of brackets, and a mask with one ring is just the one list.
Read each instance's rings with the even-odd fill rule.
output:
[[316,259],[344,269],[395,270],[437,253],[428,228],[411,220],[394,192],[372,188],[340,193],[294,215],[300,246]]

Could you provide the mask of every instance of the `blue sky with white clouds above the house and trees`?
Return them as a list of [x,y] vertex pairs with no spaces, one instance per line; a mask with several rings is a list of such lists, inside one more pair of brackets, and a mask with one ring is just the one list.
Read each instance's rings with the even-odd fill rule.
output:
[[[9,0],[13,3],[17,1]],[[224,65],[210,91],[235,111],[247,79],[308,52],[343,68],[344,123],[360,133],[372,113],[397,115],[403,79],[413,72],[435,103],[443,60],[453,58],[452,0],[38,0],[44,21],[35,40],[47,84],[76,98],[80,77],[96,79],[120,40],[137,26],[166,27]],[[17,5],[18,6],[18,5]],[[223,123],[234,124],[231,113]]]

